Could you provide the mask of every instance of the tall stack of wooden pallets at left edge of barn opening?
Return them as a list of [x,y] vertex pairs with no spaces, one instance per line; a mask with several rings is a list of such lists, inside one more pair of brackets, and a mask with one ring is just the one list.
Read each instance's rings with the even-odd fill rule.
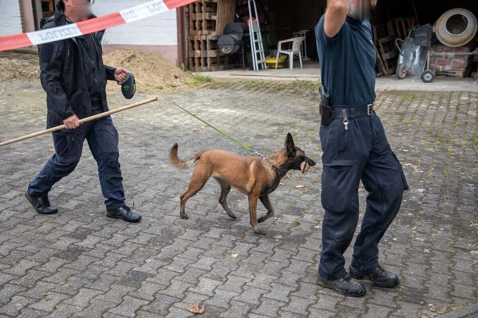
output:
[[235,0],[199,0],[189,5],[188,66],[196,72],[220,71],[228,57],[218,48],[227,24],[234,22]]

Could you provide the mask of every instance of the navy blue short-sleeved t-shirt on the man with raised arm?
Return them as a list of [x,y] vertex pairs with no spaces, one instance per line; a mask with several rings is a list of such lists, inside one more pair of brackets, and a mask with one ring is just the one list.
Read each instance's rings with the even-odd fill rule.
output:
[[315,27],[322,85],[331,106],[358,107],[375,100],[376,53],[369,22],[347,16],[339,33],[329,38],[325,15]]

